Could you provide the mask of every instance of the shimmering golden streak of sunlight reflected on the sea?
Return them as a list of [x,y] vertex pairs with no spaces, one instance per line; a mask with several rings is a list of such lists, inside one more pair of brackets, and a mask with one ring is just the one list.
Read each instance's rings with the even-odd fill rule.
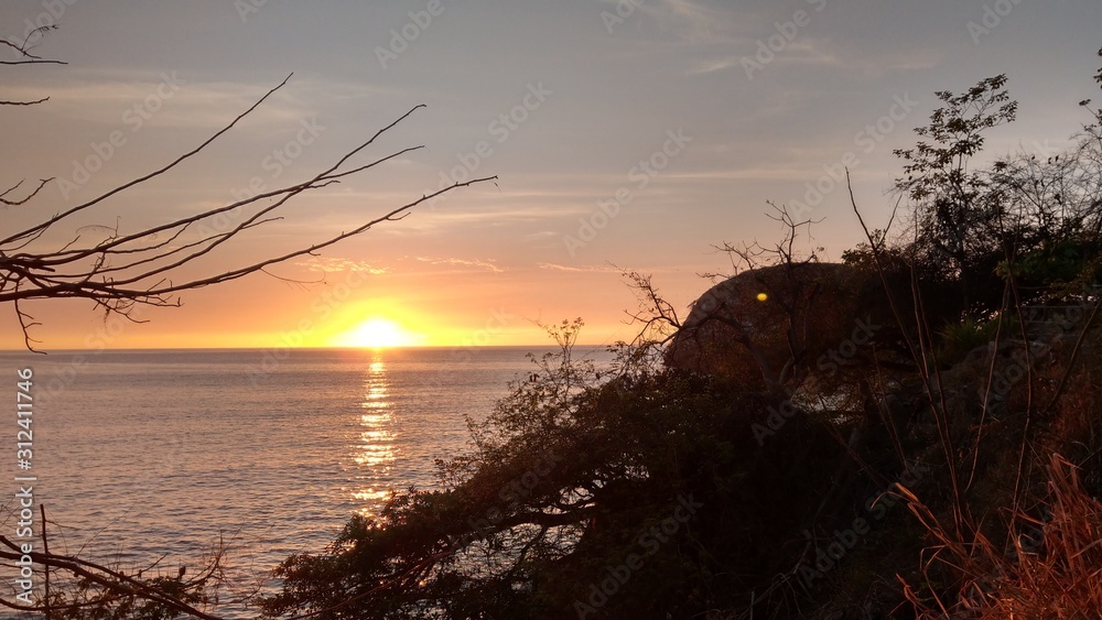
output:
[[363,505],[358,512],[364,516],[376,515],[377,509],[390,498],[388,488],[397,437],[388,388],[387,366],[382,353],[376,352],[364,374],[364,395],[359,405],[363,413],[355,455],[361,471],[356,477],[359,488],[353,492],[353,498]]

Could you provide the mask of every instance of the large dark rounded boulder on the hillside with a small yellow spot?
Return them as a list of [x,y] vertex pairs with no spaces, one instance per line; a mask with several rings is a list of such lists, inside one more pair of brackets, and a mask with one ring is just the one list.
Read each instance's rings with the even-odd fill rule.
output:
[[866,273],[840,263],[745,271],[700,296],[666,363],[748,388],[779,385],[799,368],[813,368],[824,351],[861,335],[863,319],[871,316],[868,283]]

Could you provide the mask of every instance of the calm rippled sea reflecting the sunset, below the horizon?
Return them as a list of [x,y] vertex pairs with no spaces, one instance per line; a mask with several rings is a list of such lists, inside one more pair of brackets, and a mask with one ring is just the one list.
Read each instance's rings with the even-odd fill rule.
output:
[[[480,418],[533,368],[532,348],[0,352],[34,370],[34,498],[51,551],[163,574],[198,569],[222,541],[234,588],[317,552],[391,489],[435,485],[433,461],[468,446]],[[591,357],[598,361],[603,352]],[[606,356],[605,356],[606,357]],[[14,437],[17,417],[7,423]],[[17,470],[14,449],[0,467]],[[9,458],[10,457],[10,458]],[[12,537],[9,482],[3,493]],[[12,575],[0,575],[11,584]],[[240,607],[227,618],[253,617]]]

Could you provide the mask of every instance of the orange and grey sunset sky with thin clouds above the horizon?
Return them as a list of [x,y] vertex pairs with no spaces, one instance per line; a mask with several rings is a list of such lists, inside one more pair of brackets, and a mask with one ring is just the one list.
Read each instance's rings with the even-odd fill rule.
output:
[[[353,163],[422,149],[300,195],[176,275],[282,254],[497,176],[273,275],[142,308],[143,323],[87,301],[28,303],[46,351],[545,345],[541,325],[575,317],[583,342],[630,339],[625,270],[650,275],[683,316],[704,275],[732,272],[716,246],[781,238],[770,202],[817,220],[799,247],[840,260],[863,235],[831,176],[842,162],[866,219],[886,224],[893,150],[915,143],[938,90],[1007,74],[1018,121],[991,132],[985,156],[1058,153],[1088,120],[1078,102],[1099,95],[1102,46],[1098,0],[0,6],[0,36],[22,41],[34,24],[58,26],[34,53],[67,64],[0,66],[0,99],[50,97],[0,108],[0,185],[55,181],[0,210],[0,232],[166,164],[291,78],[184,165],[32,249],[300,183],[420,105]],[[0,309],[0,348],[21,348],[14,309]]]

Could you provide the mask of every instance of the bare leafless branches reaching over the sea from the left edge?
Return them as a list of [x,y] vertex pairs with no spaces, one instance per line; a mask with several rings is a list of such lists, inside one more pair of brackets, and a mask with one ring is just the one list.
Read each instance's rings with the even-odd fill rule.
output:
[[[408,216],[418,205],[442,194],[497,178],[496,176],[486,176],[464,183],[454,183],[451,186],[422,195],[404,205],[392,208],[385,215],[371,218],[348,231],[343,231],[331,238],[251,264],[214,274],[184,279],[182,282],[172,278],[174,274],[179,274],[180,270],[188,263],[212,253],[220,246],[237,238],[240,233],[282,219],[281,216],[276,215],[276,211],[300,194],[341,183],[346,177],[371,170],[407,153],[423,149],[423,145],[399,149],[367,164],[343,170],[352,157],[371,146],[379,137],[392,130],[418,109],[424,107],[423,105],[418,105],[376,131],[367,141],[337,157],[332,165],[304,182],[264,192],[184,218],[153,225],[136,232],[120,233],[118,226],[114,228],[99,227],[107,231],[107,236],[98,242],[89,243],[82,241],[82,237],[88,235],[94,228],[84,227],[77,231],[77,236],[74,239],[58,249],[45,251],[31,251],[28,249],[35,241],[41,242],[47,231],[57,230],[60,225],[69,220],[76,214],[89,211],[112,196],[165,175],[182,162],[195,156],[216,139],[237,126],[241,119],[253,112],[272,94],[287,85],[290,78],[291,76],[289,75],[198,146],[180,155],[169,164],[114,187],[96,198],[76,205],[39,224],[7,235],[3,239],[0,239],[0,303],[78,297],[91,300],[97,307],[102,308],[107,314],[115,313],[127,317],[129,317],[130,313],[138,305],[179,305],[175,295],[180,292],[237,280],[298,257],[316,255],[318,250],[349,237],[366,232],[374,226],[400,220]],[[22,182],[20,182],[3,194],[0,194],[0,200],[2,200],[3,205],[9,206],[23,205],[34,198],[47,182],[48,180],[40,182],[37,187],[28,196],[20,199],[6,198],[6,196],[22,185]],[[268,199],[274,200],[271,204],[263,205],[262,202],[267,202]],[[218,216],[222,216],[222,218],[227,216],[239,217],[240,220],[233,224],[228,229],[218,230],[218,226],[215,225],[218,221],[215,218]],[[233,221],[233,218],[230,221]],[[184,241],[184,235],[194,231],[196,228],[198,228],[199,238],[197,240]],[[223,228],[226,228],[225,224],[223,224]],[[23,329],[25,345],[28,349],[34,350],[32,342],[36,340],[30,337],[28,330],[37,324],[31,315],[21,308],[17,308],[17,315]]]

